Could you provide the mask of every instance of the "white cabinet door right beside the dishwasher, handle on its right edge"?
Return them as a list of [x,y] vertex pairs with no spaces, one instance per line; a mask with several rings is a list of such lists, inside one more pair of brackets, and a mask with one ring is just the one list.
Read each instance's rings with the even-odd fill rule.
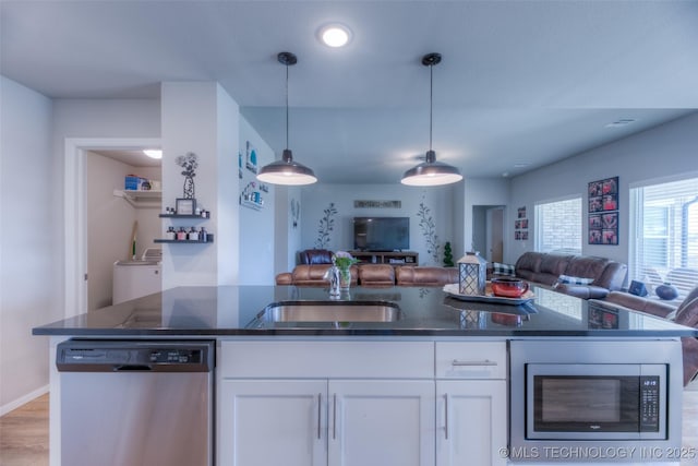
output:
[[327,464],[327,381],[224,380],[222,466]]

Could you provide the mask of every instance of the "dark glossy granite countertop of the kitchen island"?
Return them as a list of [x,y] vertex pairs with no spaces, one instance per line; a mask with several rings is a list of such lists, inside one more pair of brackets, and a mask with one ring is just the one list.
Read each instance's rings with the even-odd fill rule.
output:
[[698,330],[550,289],[532,288],[525,306],[455,299],[441,288],[361,288],[352,301],[390,301],[394,322],[274,323],[255,320],[269,303],[327,300],[327,289],[293,286],[179,287],[33,330],[34,335],[226,336],[698,336]]

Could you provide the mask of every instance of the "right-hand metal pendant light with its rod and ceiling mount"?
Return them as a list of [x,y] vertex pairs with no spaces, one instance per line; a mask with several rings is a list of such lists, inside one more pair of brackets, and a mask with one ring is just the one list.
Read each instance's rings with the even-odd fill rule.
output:
[[436,162],[436,153],[432,150],[432,113],[434,106],[434,65],[441,63],[441,53],[428,53],[422,58],[422,64],[429,67],[429,151],[426,159],[417,167],[410,168],[402,175],[402,184],[408,186],[438,186],[450,184],[462,179],[458,168]]

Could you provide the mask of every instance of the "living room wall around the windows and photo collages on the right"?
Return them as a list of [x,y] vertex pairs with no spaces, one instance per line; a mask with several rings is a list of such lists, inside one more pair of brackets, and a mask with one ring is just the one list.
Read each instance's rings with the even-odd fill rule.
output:
[[[529,240],[515,241],[513,235],[507,234],[505,261],[513,263],[522,252],[533,250],[535,202],[581,194],[582,254],[600,255],[627,264],[629,186],[691,172],[698,176],[696,147],[698,112],[512,179],[510,208],[505,223],[510,228],[516,219],[516,208],[526,206]],[[587,244],[588,183],[615,176],[619,177],[618,246]]]

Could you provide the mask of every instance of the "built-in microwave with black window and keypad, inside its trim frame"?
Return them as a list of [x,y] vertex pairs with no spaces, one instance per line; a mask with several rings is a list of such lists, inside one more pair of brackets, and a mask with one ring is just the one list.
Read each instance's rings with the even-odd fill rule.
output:
[[667,365],[526,366],[526,438],[666,438]]

